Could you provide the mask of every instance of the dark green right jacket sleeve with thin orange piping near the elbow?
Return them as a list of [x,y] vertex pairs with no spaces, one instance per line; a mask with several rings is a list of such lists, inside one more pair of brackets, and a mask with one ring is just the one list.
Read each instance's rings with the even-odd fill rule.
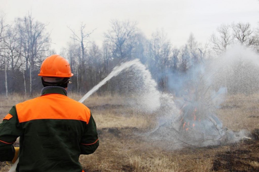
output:
[[89,122],[84,129],[83,137],[81,139],[80,154],[85,154],[85,155],[91,154],[95,152],[98,146],[99,146],[99,139],[98,139],[98,134],[96,130],[96,124],[91,114]]

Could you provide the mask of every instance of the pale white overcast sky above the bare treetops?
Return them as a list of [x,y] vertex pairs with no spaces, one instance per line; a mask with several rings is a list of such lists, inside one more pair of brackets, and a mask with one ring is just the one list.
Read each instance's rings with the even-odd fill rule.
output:
[[175,46],[184,45],[192,32],[205,43],[222,23],[249,22],[258,26],[258,0],[0,0],[0,12],[9,24],[28,12],[42,22],[49,23],[52,48],[57,53],[70,40],[73,28],[78,31],[81,22],[101,46],[103,33],[110,28],[110,20],[138,22],[140,30],[150,38],[152,32],[163,28]]

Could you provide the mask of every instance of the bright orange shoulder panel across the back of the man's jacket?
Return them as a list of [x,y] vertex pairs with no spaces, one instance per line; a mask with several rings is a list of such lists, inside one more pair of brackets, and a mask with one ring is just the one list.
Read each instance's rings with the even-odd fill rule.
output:
[[46,94],[16,104],[19,122],[34,119],[74,119],[89,122],[91,112],[82,103],[62,94]]

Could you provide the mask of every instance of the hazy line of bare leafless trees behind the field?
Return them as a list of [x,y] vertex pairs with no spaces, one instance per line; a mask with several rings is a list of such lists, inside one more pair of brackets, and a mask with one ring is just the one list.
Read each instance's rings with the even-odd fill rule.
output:
[[[17,18],[11,24],[0,19],[0,93],[8,96],[17,92],[32,94],[42,88],[37,76],[41,62],[49,55],[60,54],[71,65],[70,91],[86,93],[99,83],[114,66],[138,58],[152,73],[161,91],[172,92],[172,76],[181,77],[194,65],[226,51],[236,43],[251,47],[259,52],[259,28],[252,29],[249,23],[221,25],[210,40],[201,44],[190,34],[186,44],[175,47],[163,30],[153,32],[147,38],[133,21],[112,20],[104,33],[102,46],[90,41],[93,31],[81,23],[80,32],[69,28],[71,41],[61,52],[51,49],[51,36],[46,24],[34,19],[31,14]],[[123,81],[124,80],[124,81]],[[126,83],[120,77],[107,83],[99,92],[116,92]]]

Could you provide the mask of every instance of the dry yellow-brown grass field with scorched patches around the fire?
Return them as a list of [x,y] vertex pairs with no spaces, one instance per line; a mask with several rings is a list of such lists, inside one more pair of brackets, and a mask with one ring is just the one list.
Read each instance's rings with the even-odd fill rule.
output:
[[[37,95],[36,95],[37,96]],[[82,96],[69,94],[75,100]],[[18,94],[0,97],[0,117],[12,105],[29,97]],[[118,96],[91,96],[85,102],[97,124],[100,146],[91,155],[81,155],[85,171],[259,171],[259,95],[231,95],[218,110],[228,129],[251,132],[253,140],[230,145],[167,148],[170,143],[155,143],[136,134],[154,126],[154,116],[137,114]],[[0,162],[0,171],[10,165]]]

